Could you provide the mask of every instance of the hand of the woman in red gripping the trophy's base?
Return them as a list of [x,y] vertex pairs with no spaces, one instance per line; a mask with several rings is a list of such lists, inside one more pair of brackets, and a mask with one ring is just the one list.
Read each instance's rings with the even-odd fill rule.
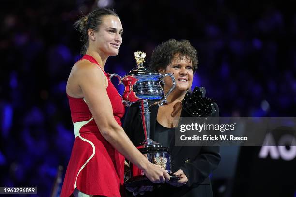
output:
[[149,162],[146,169],[143,170],[146,177],[153,183],[164,183],[170,180],[170,175],[163,168]]

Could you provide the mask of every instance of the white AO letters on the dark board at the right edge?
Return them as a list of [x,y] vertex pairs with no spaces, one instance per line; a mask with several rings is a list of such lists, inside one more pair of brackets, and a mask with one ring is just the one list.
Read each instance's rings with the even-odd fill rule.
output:
[[263,146],[259,152],[259,158],[266,158],[269,154],[272,159],[283,159],[285,161],[291,161],[296,157],[296,139],[293,135],[282,135],[278,141],[278,144],[286,144],[286,146],[271,146],[270,144],[276,144],[273,136],[267,134]]

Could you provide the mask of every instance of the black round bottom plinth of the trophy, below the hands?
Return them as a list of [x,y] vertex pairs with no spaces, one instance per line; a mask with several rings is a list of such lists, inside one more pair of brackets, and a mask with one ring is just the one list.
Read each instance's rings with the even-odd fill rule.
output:
[[[174,176],[173,174],[169,174],[171,176],[170,181],[179,180],[180,177]],[[160,185],[163,183],[152,183],[145,175],[136,176],[128,179],[123,186],[125,187],[141,187],[141,186],[153,186]]]

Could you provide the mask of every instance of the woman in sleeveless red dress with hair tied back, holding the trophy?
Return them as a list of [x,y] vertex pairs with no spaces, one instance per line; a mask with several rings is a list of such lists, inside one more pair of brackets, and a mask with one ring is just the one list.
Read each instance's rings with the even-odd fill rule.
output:
[[61,197],[120,197],[124,157],[152,182],[168,181],[168,173],[150,163],[122,129],[122,99],[104,71],[107,58],[118,55],[122,43],[118,15],[97,9],[74,25],[85,55],[74,64],[67,82],[75,141]]

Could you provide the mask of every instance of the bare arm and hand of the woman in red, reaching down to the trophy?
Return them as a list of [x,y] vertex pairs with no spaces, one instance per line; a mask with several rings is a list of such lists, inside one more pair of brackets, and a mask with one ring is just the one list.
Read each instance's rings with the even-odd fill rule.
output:
[[143,170],[152,182],[164,182],[170,176],[142,155],[118,125],[107,95],[105,75],[95,64],[83,64],[74,73],[89,110],[102,136],[129,161]]

